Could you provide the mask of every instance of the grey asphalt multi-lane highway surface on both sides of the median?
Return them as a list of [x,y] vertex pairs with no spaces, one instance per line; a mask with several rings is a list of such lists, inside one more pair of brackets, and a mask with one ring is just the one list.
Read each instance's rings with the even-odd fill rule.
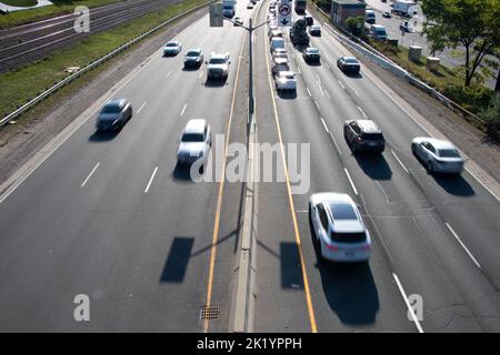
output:
[[[239,1],[237,16],[261,23],[268,6]],[[274,89],[268,29],[253,38],[257,141],[277,144],[277,170],[291,143],[308,144],[310,179],[300,194],[284,172],[284,181],[257,184],[248,329],[498,332],[498,197],[468,171],[427,173],[410,142],[430,125],[367,68],[339,71],[349,50],[322,30],[311,38],[322,55],[316,65],[284,36],[297,94]],[[224,134],[222,151],[247,143],[248,36],[229,22],[209,28],[206,16],[174,40],[206,59],[230,52],[228,81],[207,82],[204,64],[182,70],[183,52],[162,58],[159,49],[1,195],[0,329],[232,331],[244,184],[191,182],[176,153],[190,119]],[[120,97],[134,116],[117,134],[97,133],[97,110]],[[384,133],[380,156],[353,155],[343,139],[344,120],[366,118]],[[226,156],[217,146],[212,155]],[[308,199],[322,191],[358,203],[372,235],[368,263],[318,261]],[[74,321],[78,294],[90,297],[90,322]],[[422,318],[408,312],[414,295]],[[214,320],[200,318],[203,305],[218,307]]]

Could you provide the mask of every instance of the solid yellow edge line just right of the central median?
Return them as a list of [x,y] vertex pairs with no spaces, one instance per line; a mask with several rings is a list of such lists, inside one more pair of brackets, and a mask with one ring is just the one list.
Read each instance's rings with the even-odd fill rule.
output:
[[272,106],[273,106],[273,110],[274,110],[276,128],[278,130],[278,138],[280,140],[281,159],[283,161],[284,176],[287,179],[287,192],[288,192],[288,201],[289,201],[289,204],[290,204],[290,214],[291,214],[292,221],[293,221],[293,231],[294,231],[294,234],[296,234],[296,243],[297,243],[297,247],[299,250],[300,266],[302,268],[303,287],[304,287],[304,292],[306,292],[306,302],[307,302],[308,312],[309,312],[309,322],[311,324],[311,332],[312,333],[318,333],[318,327],[316,325],[316,317],[314,317],[314,308],[312,306],[312,300],[311,300],[311,292],[309,290],[309,280],[308,280],[308,274],[307,274],[307,271],[306,271],[306,263],[304,263],[304,258],[303,258],[302,243],[300,242],[300,233],[299,233],[299,225],[297,223],[296,207],[293,205],[293,197],[292,197],[292,194],[291,194],[290,178],[288,175],[288,166],[287,166],[287,161],[284,159],[283,140],[282,140],[282,136],[281,136],[280,122],[279,122],[279,119],[278,119],[278,109],[277,109],[277,105],[276,105],[274,90],[273,90],[272,83],[271,83],[271,72],[269,70],[269,48],[268,48],[268,42],[266,41],[266,38],[264,38],[264,44],[266,44],[266,64],[267,64],[267,68],[268,68],[268,81],[269,81],[269,88],[271,90]]

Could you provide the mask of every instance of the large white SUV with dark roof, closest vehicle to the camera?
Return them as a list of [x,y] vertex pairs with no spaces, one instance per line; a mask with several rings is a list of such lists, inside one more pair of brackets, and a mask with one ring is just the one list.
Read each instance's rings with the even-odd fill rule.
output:
[[370,233],[351,196],[334,192],[312,194],[309,217],[321,260],[366,262],[370,258]]

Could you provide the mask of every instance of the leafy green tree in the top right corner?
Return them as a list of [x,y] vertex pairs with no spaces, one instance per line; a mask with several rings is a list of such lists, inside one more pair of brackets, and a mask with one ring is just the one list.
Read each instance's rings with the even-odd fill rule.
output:
[[[489,67],[494,69],[496,62],[484,57],[498,53],[500,45],[500,0],[422,0],[422,11],[431,52],[463,47],[466,87],[474,77],[481,81],[492,75]],[[481,63],[483,68],[478,71]]]

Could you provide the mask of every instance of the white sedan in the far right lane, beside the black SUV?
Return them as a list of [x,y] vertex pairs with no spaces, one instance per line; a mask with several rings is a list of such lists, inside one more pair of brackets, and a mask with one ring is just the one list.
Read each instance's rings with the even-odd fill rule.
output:
[[463,159],[451,142],[418,136],[411,141],[411,151],[429,173],[460,174],[463,170]]

